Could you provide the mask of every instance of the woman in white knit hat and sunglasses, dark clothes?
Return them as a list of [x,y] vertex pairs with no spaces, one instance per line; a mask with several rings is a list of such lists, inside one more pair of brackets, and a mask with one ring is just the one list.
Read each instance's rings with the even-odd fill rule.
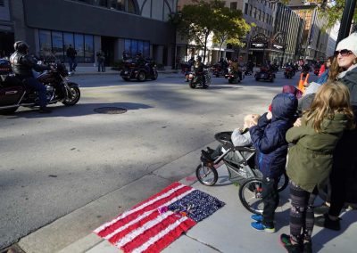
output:
[[[341,40],[336,47],[336,60],[343,69],[337,80],[345,84],[350,91],[351,105],[355,121],[357,118],[357,33]],[[357,202],[357,130],[345,131],[336,145],[334,165],[330,175],[331,206],[328,213],[316,217],[315,224],[332,230],[340,230],[340,212],[345,201]]]

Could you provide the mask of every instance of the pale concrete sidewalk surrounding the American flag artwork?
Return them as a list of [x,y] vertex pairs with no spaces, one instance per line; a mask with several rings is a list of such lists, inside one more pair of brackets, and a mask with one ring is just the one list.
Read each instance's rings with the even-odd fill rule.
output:
[[[210,143],[214,147],[217,143]],[[205,146],[204,146],[205,147]],[[202,147],[202,148],[204,148]],[[112,220],[113,217],[149,198],[172,182],[191,185],[197,190],[207,192],[226,203],[212,216],[195,224],[186,234],[179,237],[165,253],[182,252],[286,252],[278,244],[281,233],[289,233],[288,189],[281,193],[281,206],[277,209],[277,233],[257,232],[250,227],[252,215],[238,199],[238,186],[228,181],[227,169],[218,168],[219,181],[215,186],[204,186],[195,180],[193,174],[198,164],[201,149],[187,153],[102,198],[87,204],[83,208],[56,220],[52,224],[22,238],[18,245],[26,253],[61,252],[61,253],[114,253],[121,252],[91,233],[95,228]],[[189,175],[189,176],[187,176]],[[141,195],[140,195],[141,194]],[[342,215],[340,232],[314,228],[313,252],[355,252],[357,234],[357,212],[346,211]]]

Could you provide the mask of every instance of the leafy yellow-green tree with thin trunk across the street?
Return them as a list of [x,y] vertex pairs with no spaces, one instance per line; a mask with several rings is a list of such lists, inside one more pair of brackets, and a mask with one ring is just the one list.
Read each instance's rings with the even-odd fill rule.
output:
[[[205,61],[207,42],[210,35],[220,31],[232,39],[237,39],[246,33],[249,27],[242,20],[242,13],[230,11],[221,0],[193,0],[193,4],[185,5],[181,12],[170,16],[170,20],[176,25],[179,34],[188,40],[194,40],[197,45],[203,47],[203,61]],[[239,21],[238,21],[239,20]],[[241,25],[233,28],[235,25]],[[225,39],[227,40],[228,37]]]

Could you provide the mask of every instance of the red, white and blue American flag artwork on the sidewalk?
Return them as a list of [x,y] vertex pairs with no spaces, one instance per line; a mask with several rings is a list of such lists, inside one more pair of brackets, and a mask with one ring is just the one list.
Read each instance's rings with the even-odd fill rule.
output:
[[124,252],[160,252],[224,202],[175,182],[94,233]]

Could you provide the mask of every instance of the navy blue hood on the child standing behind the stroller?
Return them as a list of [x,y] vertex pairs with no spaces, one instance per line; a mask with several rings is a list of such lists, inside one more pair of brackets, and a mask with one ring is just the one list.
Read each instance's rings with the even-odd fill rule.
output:
[[297,110],[297,99],[294,94],[277,94],[271,102],[271,113],[274,119],[292,120]]

